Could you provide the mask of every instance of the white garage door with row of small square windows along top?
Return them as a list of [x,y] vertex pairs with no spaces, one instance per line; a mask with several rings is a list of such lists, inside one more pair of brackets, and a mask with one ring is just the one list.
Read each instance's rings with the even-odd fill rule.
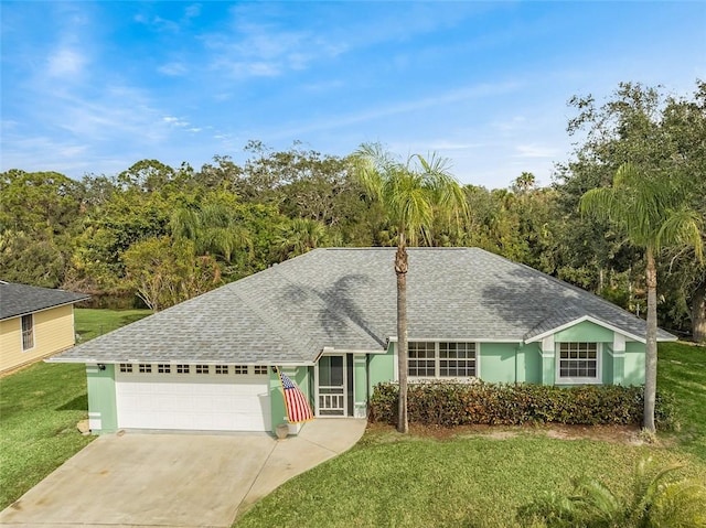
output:
[[214,365],[116,365],[118,428],[269,431],[268,376],[253,373],[253,366],[216,373]]

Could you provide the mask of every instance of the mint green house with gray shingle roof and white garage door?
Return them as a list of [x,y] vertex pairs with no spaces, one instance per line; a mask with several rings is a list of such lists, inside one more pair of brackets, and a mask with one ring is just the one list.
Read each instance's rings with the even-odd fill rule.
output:
[[[394,254],[315,249],[52,360],[86,364],[94,432],[274,430],[286,416],[274,366],[317,416],[365,418],[375,385],[397,376]],[[411,382],[644,380],[644,321],[526,266],[413,248],[407,284]]]

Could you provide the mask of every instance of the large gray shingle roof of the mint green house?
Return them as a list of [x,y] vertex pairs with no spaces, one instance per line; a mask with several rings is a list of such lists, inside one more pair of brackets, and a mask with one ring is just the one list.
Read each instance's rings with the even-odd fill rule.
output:
[[[274,266],[57,356],[63,362],[299,363],[381,352],[396,335],[394,248],[328,248]],[[409,338],[522,342],[582,316],[641,319],[478,248],[413,248]],[[671,340],[666,332],[661,340]]]

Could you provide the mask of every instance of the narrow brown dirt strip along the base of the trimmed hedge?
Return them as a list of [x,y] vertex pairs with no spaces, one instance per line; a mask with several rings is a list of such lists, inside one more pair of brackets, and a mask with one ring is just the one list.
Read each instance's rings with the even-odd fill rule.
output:
[[[400,440],[395,428],[382,423],[368,423],[367,430],[377,437],[387,440]],[[645,440],[640,434],[637,425],[564,425],[559,423],[544,425],[459,425],[456,428],[442,428],[435,425],[411,424],[409,432],[419,438],[434,438],[436,440],[450,440],[458,438],[482,437],[492,440],[507,440],[521,434],[543,434],[557,440],[598,440],[629,445],[642,445]]]

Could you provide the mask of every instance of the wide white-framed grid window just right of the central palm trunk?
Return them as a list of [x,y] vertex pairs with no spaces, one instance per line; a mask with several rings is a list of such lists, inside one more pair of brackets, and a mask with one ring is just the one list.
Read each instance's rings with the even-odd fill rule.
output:
[[413,341],[407,373],[413,378],[475,377],[475,343]]

